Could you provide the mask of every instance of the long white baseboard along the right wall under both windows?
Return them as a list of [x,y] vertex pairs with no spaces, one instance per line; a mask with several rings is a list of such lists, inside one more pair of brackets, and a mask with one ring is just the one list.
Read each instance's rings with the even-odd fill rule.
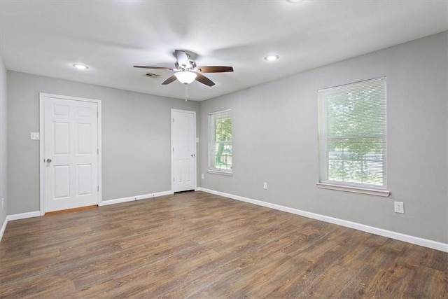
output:
[[216,190],[210,190],[207,188],[197,188],[198,191],[204,191],[207,193],[211,193],[211,194],[215,194],[215,195],[221,195],[223,197],[228,197],[231,198],[232,200],[239,200],[241,202],[248,202],[251,204],[257,204],[259,206],[262,207],[269,207],[271,209],[276,209],[279,211],[286,211],[288,213],[291,214],[296,214],[296,215],[300,215],[300,216],[304,216],[304,217],[308,217],[308,218],[313,218],[316,220],[320,220],[320,221],[325,221],[328,223],[333,223],[333,224],[337,224],[337,225],[341,225],[344,226],[346,228],[354,228],[355,230],[361,230],[363,232],[370,232],[371,234],[374,235],[380,235],[383,237],[388,237],[391,239],[397,239],[399,241],[403,241],[403,242],[408,242],[411,244],[416,244],[419,246],[425,246],[431,249],[436,249],[436,250],[440,250],[440,251],[444,251],[444,252],[448,252],[448,244],[445,243],[441,243],[441,242],[436,242],[430,239],[423,239],[421,237],[414,237],[411,235],[405,235],[402,234],[400,232],[393,232],[391,230],[384,230],[382,228],[374,228],[373,226],[369,226],[369,225],[364,225],[364,224],[360,224],[360,223],[356,223],[356,222],[351,222],[351,221],[346,221],[346,220],[342,220],[339,218],[333,218],[333,217],[329,217],[329,216],[325,216],[325,215],[321,215],[321,214],[315,214],[315,213],[311,213],[309,211],[302,211],[300,209],[293,209],[290,207],[284,207],[281,206],[279,204],[272,204],[269,202],[262,202],[260,200],[253,200],[251,198],[247,198],[247,197],[242,197],[242,196],[238,196],[238,195],[232,195],[232,194],[228,194],[228,193],[223,193],[220,191],[216,191]]

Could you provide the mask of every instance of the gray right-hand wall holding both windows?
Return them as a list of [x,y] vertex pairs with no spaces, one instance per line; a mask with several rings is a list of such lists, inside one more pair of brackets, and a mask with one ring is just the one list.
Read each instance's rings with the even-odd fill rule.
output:
[[[233,113],[233,176],[207,173],[200,145],[198,185],[448,243],[447,32],[201,102]],[[330,49],[329,49],[330,50]],[[316,187],[317,90],[387,76],[390,197]],[[262,183],[267,182],[268,190]],[[405,214],[393,202],[405,203]]]

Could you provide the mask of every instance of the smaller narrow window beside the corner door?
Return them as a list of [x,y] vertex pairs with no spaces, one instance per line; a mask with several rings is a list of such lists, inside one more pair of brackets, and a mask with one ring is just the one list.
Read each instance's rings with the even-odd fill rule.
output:
[[232,174],[232,111],[209,113],[209,172]]

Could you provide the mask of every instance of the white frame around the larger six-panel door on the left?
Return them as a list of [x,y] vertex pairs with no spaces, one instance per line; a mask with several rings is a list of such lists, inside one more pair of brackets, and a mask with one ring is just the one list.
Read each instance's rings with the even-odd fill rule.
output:
[[66,99],[69,101],[78,101],[78,102],[90,102],[96,103],[98,107],[98,205],[102,203],[102,109],[101,109],[101,100],[100,99],[87,99],[83,97],[70,97],[67,95],[53,95],[49,93],[39,92],[39,183],[41,188],[40,194],[40,211],[41,216],[45,214],[45,113],[44,113],[44,99],[45,97],[54,97],[57,99]]

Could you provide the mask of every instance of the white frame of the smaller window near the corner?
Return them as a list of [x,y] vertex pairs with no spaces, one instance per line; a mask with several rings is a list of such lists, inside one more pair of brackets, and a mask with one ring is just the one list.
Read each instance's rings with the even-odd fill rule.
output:
[[[220,111],[214,111],[209,113],[209,153],[208,153],[208,169],[207,172],[211,174],[221,174],[226,176],[233,175],[233,160],[231,162],[230,169],[220,169],[216,167],[216,153],[215,148],[216,144],[226,144],[230,145],[233,148],[232,138],[230,140],[225,141],[216,141],[216,119],[227,118],[226,116],[230,115],[230,119],[233,120],[232,109],[225,109]],[[232,134],[233,134],[233,121],[232,121]],[[233,158],[233,153],[230,155],[230,158]]]

